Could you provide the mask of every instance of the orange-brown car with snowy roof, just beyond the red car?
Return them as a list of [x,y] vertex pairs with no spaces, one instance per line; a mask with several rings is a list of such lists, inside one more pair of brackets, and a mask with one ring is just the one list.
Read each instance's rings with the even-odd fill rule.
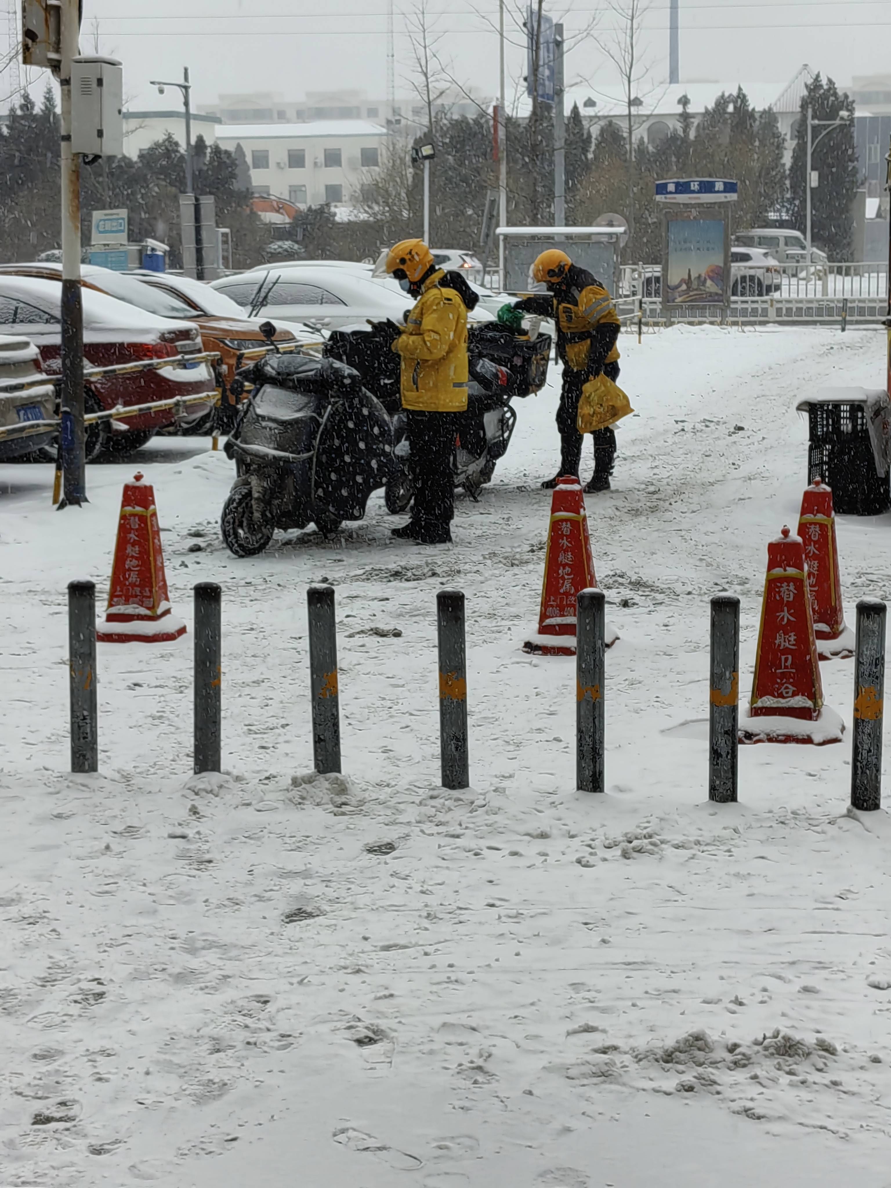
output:
[[[5,264],[0,274],[14,273],[23,277],[46,277],[56,279],[62,276],[62,266],[52,263]],[[154,278],[158,278],[157,282]],[[222,392],[223,406],[234,407],[229,399],[228,385],[241,365],[240,353],[266,346],[260,334],[263,318],[246,318],[235,302],[219,293],[202,280],[189,277],[169,277],[162,272],[114,272],[95,264],[81,265],[81,283],[89,289],[107,293],[125,301],[137,309],[158,317],[172,317],[195,322],[201,331],[204,350],[220,354],[217,381]],[[195,286],[191,289],[190,286]],[[307,341],[318,341],[318,335],[309,334],[303,327],[285,328],[277,323],[276,342],[279,346],[295,343],[298,335]]]

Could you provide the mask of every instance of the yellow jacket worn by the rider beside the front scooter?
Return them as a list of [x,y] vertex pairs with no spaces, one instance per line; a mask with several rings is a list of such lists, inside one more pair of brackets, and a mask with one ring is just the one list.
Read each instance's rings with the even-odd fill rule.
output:
[[403,334],[403,407],[418,412],[463,412],[467,407],[467,308],[454,289],[441,289],[442,270],[424,282]]

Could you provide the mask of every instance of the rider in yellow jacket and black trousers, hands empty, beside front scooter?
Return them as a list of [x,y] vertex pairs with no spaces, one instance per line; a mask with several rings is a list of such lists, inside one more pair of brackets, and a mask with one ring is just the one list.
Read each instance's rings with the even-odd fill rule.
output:
[[444,273],[421,239],[391,248],[386,271],[417,298],[393,342],[402,356],[402,400],[415,480],[411,520],[393,529],[393,536],[447,544],[455,507],[455,415],[467,409],[467,307],[454,289],[441,283]]

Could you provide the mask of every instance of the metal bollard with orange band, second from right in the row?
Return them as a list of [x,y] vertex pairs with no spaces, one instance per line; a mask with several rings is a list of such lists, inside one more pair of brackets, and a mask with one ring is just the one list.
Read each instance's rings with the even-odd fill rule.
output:
[[708,798],[737,801],[739,758],[739,599],[712,599],[712,669],[708,689]]

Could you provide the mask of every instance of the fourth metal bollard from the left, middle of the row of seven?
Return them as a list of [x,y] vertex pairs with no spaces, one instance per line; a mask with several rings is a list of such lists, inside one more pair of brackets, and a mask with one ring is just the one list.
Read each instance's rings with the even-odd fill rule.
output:
[[465,595],[460,590],[440,590],[436,595],[436,630],[440,644],[442,786],[468,788]]

